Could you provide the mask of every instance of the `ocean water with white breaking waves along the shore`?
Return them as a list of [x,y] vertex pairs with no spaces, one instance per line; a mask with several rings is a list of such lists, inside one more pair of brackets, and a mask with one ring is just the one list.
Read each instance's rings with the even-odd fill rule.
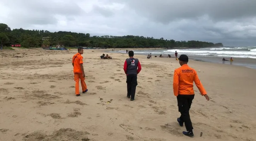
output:
[[[174,49],[156,49],[156,50],[133,50],[134,54],[148,55],[152,54],[153,56],[168,55],[175,57],[174,53],[177,51],[178,56],[181,54],[186,54],[190,59],[197,61],[207,61],[215,63],[227,63],[222,62],[222,58],[229,60],[230,57],[233,57],[233,65],[245,66],[249,68],[256,69],[256,47],[213,47],[213,48],[174,48]],[[125,53],[125,50],[115,50],[109,51],[113,53]],[[243,61],[242,61],[243,60]],[[247,61],[244,61],[247,60]]]

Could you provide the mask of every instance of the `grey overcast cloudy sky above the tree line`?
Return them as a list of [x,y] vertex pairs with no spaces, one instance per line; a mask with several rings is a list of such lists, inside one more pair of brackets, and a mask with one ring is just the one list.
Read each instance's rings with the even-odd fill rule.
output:
[[256,46],[256,0],[0,0],[14,28]]

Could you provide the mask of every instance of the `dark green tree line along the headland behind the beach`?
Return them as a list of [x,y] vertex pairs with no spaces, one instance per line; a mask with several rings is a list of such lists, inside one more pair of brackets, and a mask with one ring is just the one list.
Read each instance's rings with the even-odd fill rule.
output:
[[[46,37],[44,41],[42,38]],[[49,37],[49,38],[48,38]],[[175,41],[173,39],[155,39],[144,36],[90,36],[89,33],[75,32],[50,32],[47,30],[25,30],[13,29],[0,23],[0,45],[11,46],[21,44],[22,47],[41,47],[42,44],[57,45],[65,47],[107,47],[107,48],[200,48],[200,47],[222,47],[222,43],[211,43],[202,41]]]

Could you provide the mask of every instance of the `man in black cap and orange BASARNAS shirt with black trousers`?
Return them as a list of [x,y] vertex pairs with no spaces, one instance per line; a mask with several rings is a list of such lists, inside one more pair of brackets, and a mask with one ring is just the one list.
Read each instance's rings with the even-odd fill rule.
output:
[[174,96],[177,97],[178,108],[181,114],[177,121],[180,126],[183,126],[183,123],[185,123],[187,131],[183,131],[182,133],[192,137],[194,134],[189,110],[192,100],[194,99],[193,82],[195,82],[201,95],[204,96],[206,100],[209,101],[209,97],[198,78],[196,70],[187,65],[188,56],[184,54],[180,55],[179,63],[181,67],[175,69],[173,76],[173,92]]

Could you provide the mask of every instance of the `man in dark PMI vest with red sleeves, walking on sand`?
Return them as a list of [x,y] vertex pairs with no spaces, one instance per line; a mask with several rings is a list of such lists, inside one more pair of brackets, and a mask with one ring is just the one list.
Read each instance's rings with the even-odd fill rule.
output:
[[[137,83],[137,74],[141,71],[141,65],[138,59],[133,58],[133,51],[129,51],[129,57],[123,65],[124,73],[126,74],[127,83],[127,98],[134,100]],[[138,68],[138,69],[137,69]]]

